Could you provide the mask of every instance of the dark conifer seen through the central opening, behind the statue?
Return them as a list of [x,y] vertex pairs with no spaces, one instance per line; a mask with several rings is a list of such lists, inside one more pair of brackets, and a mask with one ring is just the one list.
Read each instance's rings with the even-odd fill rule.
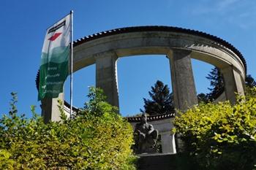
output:
[[143,98],[144,110],[148,115],[162,115],[174,112],[173,94],[170,93],[167,85],[157,80],[154,87],[151,86],[151,91],[148,92],[151,99]]

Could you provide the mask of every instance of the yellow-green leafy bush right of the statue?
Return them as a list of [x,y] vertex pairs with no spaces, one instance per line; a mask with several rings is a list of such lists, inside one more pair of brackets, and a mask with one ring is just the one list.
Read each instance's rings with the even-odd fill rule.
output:
[[176,117],[176,133],[197,169],[256,169],[256,88],[237,104],[199,104]]

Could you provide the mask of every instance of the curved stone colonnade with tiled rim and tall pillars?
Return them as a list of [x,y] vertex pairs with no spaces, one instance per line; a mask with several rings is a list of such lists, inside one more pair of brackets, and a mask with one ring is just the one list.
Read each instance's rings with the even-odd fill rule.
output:
[[[241,53],[217,36],[169,26],[118,28],[86,36],[74,42],[73,69],[78,72],[96,64],[96,86],[102,88],[110,104],[118,107],[116,61],[130,55],[167,55],[170,61],[174,104],[186,110],[197,104],[191,58],[220,69],[225,81],[222,100],[236,102],[244,94],[246,61]],[[64,94],[59,98],[64,100]],[[42,100],[45,121],[59,120],[57,98]],[[68,112],[69,108],[65,107]]]

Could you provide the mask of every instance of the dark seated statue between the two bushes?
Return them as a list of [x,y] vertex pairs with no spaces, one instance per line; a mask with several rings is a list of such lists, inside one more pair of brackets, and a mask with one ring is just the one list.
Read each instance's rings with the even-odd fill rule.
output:
[[155,147],[157,144],[158,131],[153,125],[147,123],[146,114],[141,115],[140,123],[135,125],[135,152],[157,152]]

